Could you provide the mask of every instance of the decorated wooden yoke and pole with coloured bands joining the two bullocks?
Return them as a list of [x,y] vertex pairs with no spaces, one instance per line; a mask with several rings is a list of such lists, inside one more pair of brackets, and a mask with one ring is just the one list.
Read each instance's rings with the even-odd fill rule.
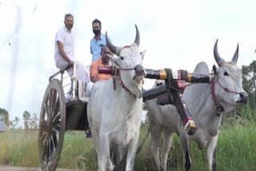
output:
[[[118,68],[114,66],[99,66],[99,74],[115,74]],[[144,90],[142,92],[143,101],[148,101],[155,97],[162,97],[162,100],[158,101],[158,105],[175,105],[178,110],[178,114],[182,119],[186,133],[193,135],[196,131],[196,125],[190,112],[186,107],[186,103],[183,99],[183,91],[186,88],[186,82],[197,83],[209,83],[210,76],[204,74],[191,74],[186,70],[150,70],[146,69],[146,77],[150,79],[164,80],[165,85],[158,85],[153,89]]]

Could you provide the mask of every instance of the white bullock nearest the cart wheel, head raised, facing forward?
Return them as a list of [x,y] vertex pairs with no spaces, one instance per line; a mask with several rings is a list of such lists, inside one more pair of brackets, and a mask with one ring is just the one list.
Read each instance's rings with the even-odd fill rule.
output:
[[127,151],[126,170],[134,169],[142,113],[142,67],[144,52],[139,51],[139,32],[131,46],[116,47],[106,34],[107,46],[118,56],[113,58],[120,69],[113,79],[96,82],[90,93],[87,114],[98,154],[98,169],[113,170],[110,146]]

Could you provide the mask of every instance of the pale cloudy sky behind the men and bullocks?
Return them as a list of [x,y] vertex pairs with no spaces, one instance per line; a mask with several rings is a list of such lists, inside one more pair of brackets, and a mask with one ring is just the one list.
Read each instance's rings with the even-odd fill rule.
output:
[[[91,22],[98,18],[115,46],[134,42],[146,50],[147,69],[188,70],[198,62],[211,67],[214,43],[230,61],[239,44],[238,66],[255,60],[256,1],[254,0],[0,0],[0,107],[22,118],[25,110],[39,116],[54,63],[54,38],[64,16],[74,15],[75,51],[90,65]],[[150,89],[154,80],[145,80]]]

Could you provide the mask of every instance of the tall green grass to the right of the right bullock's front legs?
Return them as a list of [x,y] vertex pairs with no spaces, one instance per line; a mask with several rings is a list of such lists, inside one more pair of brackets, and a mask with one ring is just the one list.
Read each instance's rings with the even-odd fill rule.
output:
[[221,125],[217,148],[217,170],[256,170],[255,121]]

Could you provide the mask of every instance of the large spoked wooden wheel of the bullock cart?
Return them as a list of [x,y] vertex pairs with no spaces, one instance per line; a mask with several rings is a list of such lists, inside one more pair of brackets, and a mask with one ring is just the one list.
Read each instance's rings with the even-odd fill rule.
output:
[[66,104],[62,83],[53,79],[42,100],[38,130],[39,161],[43,171],[54,171],[62,153]]

